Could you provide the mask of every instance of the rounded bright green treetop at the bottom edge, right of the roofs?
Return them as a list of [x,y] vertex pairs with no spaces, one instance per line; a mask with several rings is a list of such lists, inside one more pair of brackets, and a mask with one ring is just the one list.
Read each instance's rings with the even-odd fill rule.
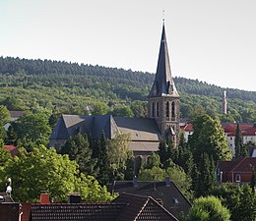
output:
[[187,221],[229,221],[230,213],[221,200],[215,196],[200,197],[194,200]]

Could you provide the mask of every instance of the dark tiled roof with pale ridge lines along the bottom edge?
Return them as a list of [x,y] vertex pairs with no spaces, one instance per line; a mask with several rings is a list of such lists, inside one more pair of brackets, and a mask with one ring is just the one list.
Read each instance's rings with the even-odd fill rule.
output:
[[[28,207],[28,206],[27,206]],[[121,194],[110,203],[32,204],[30,221],[178,221],[150,196]]]

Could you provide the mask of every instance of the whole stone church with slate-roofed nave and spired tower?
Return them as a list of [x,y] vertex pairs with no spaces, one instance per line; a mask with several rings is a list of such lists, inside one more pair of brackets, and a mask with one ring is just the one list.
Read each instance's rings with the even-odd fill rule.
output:
[[157,73],[148,96],[148,117],[62,115],[50,136],[49,146],[59,149],[78,132],[92,138],[100,138],[103,132],[109,139],[129,134],[129,148],[134,156],[145,158],[158,150],[161,138],[171,138],[174,146],[178,145],[179,120],[179,94],[171,76],[163,21]]

